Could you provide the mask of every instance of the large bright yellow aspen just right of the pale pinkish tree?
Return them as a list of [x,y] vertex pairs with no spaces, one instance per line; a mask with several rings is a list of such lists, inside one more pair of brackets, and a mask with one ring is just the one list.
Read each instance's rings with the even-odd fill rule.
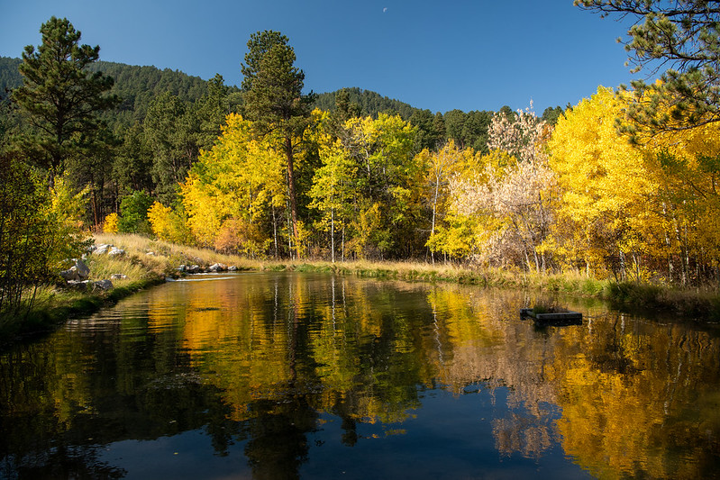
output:
[[643,151],[615,128],[625,105],[622,96],[601,86],[555,126],[550,165],[561,186],[564,218],[552,241],[564,248],[570,265],[582,264],[588,273],[607,268],[640,277],[646,274],[642,256],[652,253],[664,225],[656,208],[659,186]]

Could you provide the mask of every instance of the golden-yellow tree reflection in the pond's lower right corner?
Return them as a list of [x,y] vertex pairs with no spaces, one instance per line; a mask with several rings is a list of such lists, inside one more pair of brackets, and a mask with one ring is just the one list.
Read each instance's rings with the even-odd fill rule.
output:
[[680,324],[633,325],[598,323],[574,339],[587,353],[556,363],[563,447],[598,477],[697,478],[720,451],[717,403],[706,401],[717,395],[717,341]]

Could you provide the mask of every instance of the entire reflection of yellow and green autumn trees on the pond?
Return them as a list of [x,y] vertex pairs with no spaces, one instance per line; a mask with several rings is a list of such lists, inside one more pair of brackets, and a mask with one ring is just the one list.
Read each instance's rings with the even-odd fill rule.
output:
[[[598,477],[691,478],[720,453],[711,332],[607,312],[539,331],[518,319],[524,294],[462,285],[237,278],[177,285],[173,301],[185,305],[183,348],[233,420],[252,418],[255,402],[281,409],[302,395],[343,424],[404,432],[390,424],[422,408],[418,389],[481,385],[497,395],[501,456],[539,458],[560,444]],[[150,311],[150,327],[166,316]]]

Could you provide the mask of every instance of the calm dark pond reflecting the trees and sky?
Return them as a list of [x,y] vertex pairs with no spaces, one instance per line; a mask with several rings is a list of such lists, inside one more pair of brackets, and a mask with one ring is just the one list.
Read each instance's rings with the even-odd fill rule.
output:
[[720,476],[720,338],[460,285],[251,273],[0,356],[0,477]]

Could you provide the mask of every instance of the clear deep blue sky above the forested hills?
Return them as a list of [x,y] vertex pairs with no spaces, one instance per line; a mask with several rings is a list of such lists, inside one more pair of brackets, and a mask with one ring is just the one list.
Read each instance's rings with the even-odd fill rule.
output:
[[632,79],[627,23],[572,0],[0,0],[0,56],[67,17],[100,59],[240,85],[252,32],[283,32],[317,93],[359,86],[418,108],[537,113]]

